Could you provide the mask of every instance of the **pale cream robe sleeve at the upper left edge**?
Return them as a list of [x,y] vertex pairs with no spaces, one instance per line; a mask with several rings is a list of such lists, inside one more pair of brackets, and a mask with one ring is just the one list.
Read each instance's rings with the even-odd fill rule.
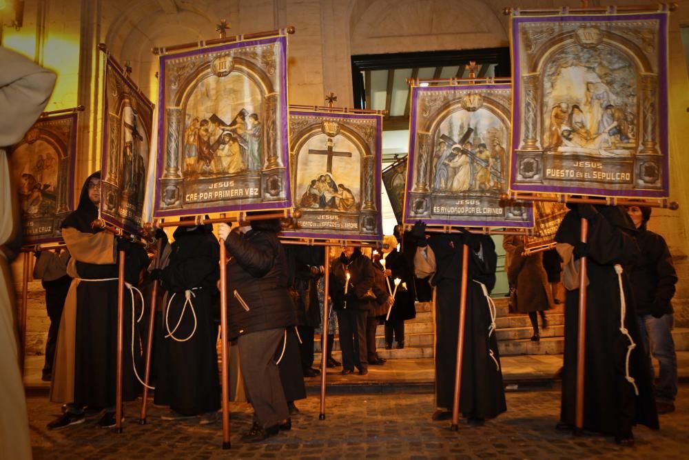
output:
[[0,146],[21,141],[48,103],[55,74],[0,46]]

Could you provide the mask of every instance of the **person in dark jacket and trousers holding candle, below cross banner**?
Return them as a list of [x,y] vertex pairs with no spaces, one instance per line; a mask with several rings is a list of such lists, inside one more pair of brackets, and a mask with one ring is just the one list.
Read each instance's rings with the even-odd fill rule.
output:
[[342,375],[354,372],[355,366],[360,375],[369,373],[366,320],[368,310],[376,303],[374,280],[371,259],[364,257],[359,248],[345,247],[332,263],[329,293],[340,325]]

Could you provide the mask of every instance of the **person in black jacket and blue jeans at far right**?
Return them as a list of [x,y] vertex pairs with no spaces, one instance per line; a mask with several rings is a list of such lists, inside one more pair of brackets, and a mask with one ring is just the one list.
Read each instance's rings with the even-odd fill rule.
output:
[[[672,340],[672,297],[675,296],[677,272],[665,239],[646,228],[651,208],[628,206],[627,214],[637,228],[639,259],[634,263],[630,281],[637,306],[641,337],[648,360],[650,355],[660,365],[655,386],[655,405],[659,414],[675,410],[677,397],[677,354]],[[651,372],[653,367],[649,366]]]

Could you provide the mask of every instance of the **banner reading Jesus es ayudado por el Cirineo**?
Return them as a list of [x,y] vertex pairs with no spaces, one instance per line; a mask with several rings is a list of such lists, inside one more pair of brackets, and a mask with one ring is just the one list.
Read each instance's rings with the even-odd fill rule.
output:
[[404,222],[533,226],[531,206],[507,191],[509,84],[413,86]]

